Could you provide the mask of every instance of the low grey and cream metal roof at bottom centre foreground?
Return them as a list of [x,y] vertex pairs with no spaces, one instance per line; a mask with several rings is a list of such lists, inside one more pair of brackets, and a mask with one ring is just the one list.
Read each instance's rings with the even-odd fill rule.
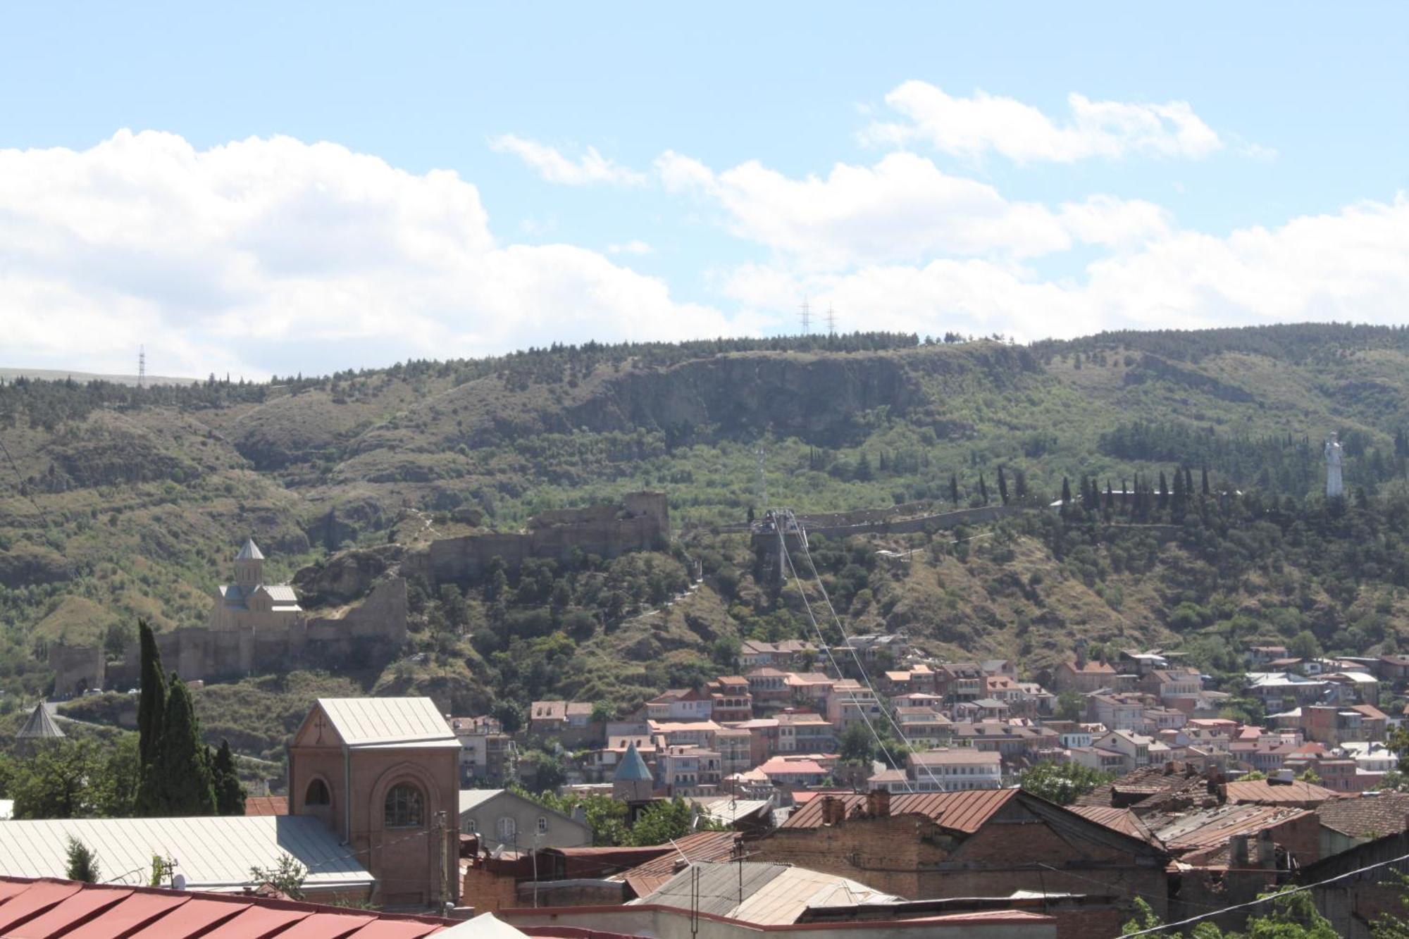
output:
[[899,900],[854,880],[806,867],[758,861],[699,861],[631,902],[696,908],[696,870],[700,912],[755,925],[795,923],[809,907],[852,907]]

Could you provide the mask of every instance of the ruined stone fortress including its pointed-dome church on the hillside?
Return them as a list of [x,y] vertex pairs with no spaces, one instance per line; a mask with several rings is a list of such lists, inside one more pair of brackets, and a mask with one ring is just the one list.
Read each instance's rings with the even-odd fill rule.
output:
[[[568,561],[579,551],[617,557],[666,550],[669,544],[665,493],[634,492],[617,503],[544,512],[530,519],[524,532],[441,539],[426,550],[404,554],[400,548],[395,554],[378,548],[347,551],[338,556],[349,561],[341,570],[355,571],[351,579],[361,599],[349,596],[335,609],[310,613],[303,609],[296,587],[265,582],[265,557],[254,539],[248,539],[235,556],[234,584],[223,584],[213,592],[207,625],[158,633],[156,643],[166,667],[186,681],[304,667],[382,667],[400,656],[406,644],[407,578],[424,579],[434,592],[441,584],[479,578],[496,557],[513,570],[530,557]],[[362,563],[366,570],[359,570]],[[316,582],[317,578],[303,578],[317,570],[306,568],[296,579]],[[58,696],[89,688],[132,688],[141,680],[135,643],[111,664],[101,644],[52,643],[48,664],[55,673]]]

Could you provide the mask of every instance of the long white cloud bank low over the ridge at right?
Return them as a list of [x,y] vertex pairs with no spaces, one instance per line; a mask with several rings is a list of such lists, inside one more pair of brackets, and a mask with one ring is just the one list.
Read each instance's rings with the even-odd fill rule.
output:
[[1203,329],[1305,320],[1401,323],[1409,295],[1409,199],[1363,202],[1339,214],[1224,238],[1174,233],[1045,281],[986,259],[799,272],[744,265],[721,289],[786,310],[810,293],[868,329],[940,334],[1002,331],[1020,340],[1109,329]]

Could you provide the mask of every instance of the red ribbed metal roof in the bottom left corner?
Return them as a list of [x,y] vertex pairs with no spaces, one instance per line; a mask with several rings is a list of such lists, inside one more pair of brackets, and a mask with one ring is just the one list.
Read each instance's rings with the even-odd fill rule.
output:
[[[499,921],[475,935],[523,936]],[[65,939],[420,939],[469,935],[468,922],[341,909],[249,895],[200,895],[151,887],[0,878],[0,933]]]

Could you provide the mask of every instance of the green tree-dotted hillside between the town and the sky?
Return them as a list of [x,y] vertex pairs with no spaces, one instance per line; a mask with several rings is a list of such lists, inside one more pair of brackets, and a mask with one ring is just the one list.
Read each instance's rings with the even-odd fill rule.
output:
[[[1395,647],[1406,427],[1409,331],[1334,324],[550,347],[145,389],[14,381],[0,386],[0,687],[7,702],[44,691],[45,642],[116,650],[138,616],[203,623],[249,534],[286,578],[635,489],[669,495],[671,554],[413,585],[409,657],[327,681],[457,708],[496,694],[627,705],[728,664],[743,636],[800,634],[795,591],[755,579],[747,540],[714,530],[764,508],[764,488],[799,512],[1005,492],[1031,506],[982,532],[817,546],[855,627],[903,627],[937,653],[1040,670],[1076,636],[1184,643],[1209,667],[1260,633]],[[1327,506],[1333,430],[1351,498]],[[1106,506],[1107,485],[1137,478],[1136,505]],[[1064,481],[1085,506],[1061,517],[1044,506]],[[1129,527],[1154,523],[1175,527]],[[892,565],[878,547],[924,550]],[[704,582],[666,606],[697,567]],[[283,733],[256,691],[323,680],[259,681],[207,689],[248,712],[249,753]]]

